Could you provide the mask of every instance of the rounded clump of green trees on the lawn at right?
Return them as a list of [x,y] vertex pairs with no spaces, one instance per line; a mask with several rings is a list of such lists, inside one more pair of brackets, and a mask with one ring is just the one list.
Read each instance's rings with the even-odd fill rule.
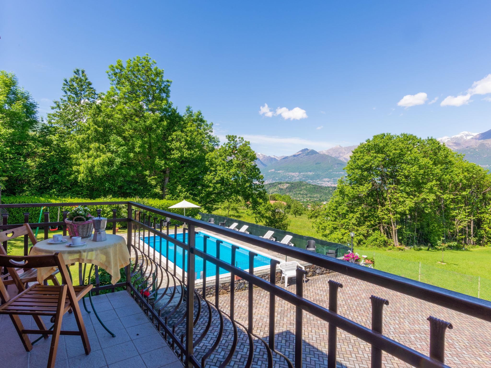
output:
[[434,138],[378,134],[360,144],[314,226],[367,246],[489,245],[491,175]]

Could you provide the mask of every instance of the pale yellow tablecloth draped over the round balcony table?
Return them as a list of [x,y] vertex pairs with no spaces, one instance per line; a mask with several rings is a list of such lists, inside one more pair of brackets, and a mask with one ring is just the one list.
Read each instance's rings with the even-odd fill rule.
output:
[[[119,235],[108,234],[104,241],[92,241],[92,237],[82,239],[87,244],[79,247],[70,247],[70,237],[64,243],[50,244],[48,240],[41,240],[29,253],[29,256],[44,256],[61,252],[66,264],[80,262],[92,263],[104,268],[111,275],[112,285],[116,284],[119,279],[119,269],[130,264],[130,253],[124,237]],[[42,284],[43,281],[55,271],[55,268],[38,268],[37,281]]]

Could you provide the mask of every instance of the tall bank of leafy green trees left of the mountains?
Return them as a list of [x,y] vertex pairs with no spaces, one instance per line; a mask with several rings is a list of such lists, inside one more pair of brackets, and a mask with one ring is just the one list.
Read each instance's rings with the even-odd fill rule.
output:
[[96,91],[83,69],[60,81],[47,118],[13,73],[0,71],[0,185],[4,195],[188,199],[213,210],[267,198],[249,142],[170,100],[172,81],[148,55],[107,70]]

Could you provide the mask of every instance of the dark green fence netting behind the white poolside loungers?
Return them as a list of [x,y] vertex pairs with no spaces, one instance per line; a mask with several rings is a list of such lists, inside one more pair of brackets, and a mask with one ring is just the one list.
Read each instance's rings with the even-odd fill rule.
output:
[[290,240],[296,247],[306,249],[307,240],[315,240],[316,252],[322,255],[333,256],[333,257],[342,257],[344,254],[348,253],[348,250],[351,249],[346,245],[333,243],[331,241],[317,239],[315,237],[305,237],[303,235],[290,233],[289,231],[278,230],[274,228],[270,228],[263,225],[253,224],[251,222],[246,222],[242,220],[238,220],[235,218],[230,218],[226,216],[219,216],[210,213],[199,212],[201,215],[201,219],[203,221],[208,221],[208,219],[213,218],[216,225],[219,225],[220,222],[223,222],[225,226],[230,226],[233,223],[237,222],[237,228],[240,229],[244,225],[247,225],[247,232],[249,234],[262,237],[268,231],[273,231],[273,238],[276,241],[281,241],[285,236],[291,235],[292,239]]

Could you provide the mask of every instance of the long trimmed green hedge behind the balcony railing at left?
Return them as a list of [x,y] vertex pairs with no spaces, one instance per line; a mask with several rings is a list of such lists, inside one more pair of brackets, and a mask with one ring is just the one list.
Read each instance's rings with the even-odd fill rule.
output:
[[[108,201],[134,201],[138,203],[145,204],[147,206],[155,207],[159,210],[166,210],[169,212],[174,212],[178,214],[184,214],[183,209],[170,209],[169,206],[175,205],[180,202],[180,200],[165,200],[165,199],[154,199],[154,198],[97,198],[97,199],[87,199],[87,198],[56,198],[56,197],[44,197],[44,196],[2,196],[1,203],[3,204],[20,204],[20,203],[70,203],[70,202],[108,202]],[[192,201],[191,201],[192,202]],[[112,218],[112,210],[116,209],[116,217],[126,217],[127,207],[126,205],[106,205],[106,206],[87,206],[90,213],[96,215],[97,209],[101,209],[102,216]],[[60,221],[63,221],[63,210],[70,210],[72,207],[60,207]],[[20,208],[9,208],[6,209],[8,212],[8,223],[9,224],[22,224],[24,223],[24,212],[29,212],[29,222],[37,223],[39,220],[39,213],[41,211],[40,207],[20,207]],[[45,209],[46,211],[46,209]],[[186,209],[186,215],[199,218],[199,209]],[[58,215],[57,207],[50,207],[50,221],[56,221]],[[41,217],[41,222],[44,222],[44,216]],[[172,222],[172,221],[171,221]],[[177,223],[177,222],[176,222]],[[123,223],[121,223],[123,225]],[[108,228],[112,228],[112,224],[108,223]]]

